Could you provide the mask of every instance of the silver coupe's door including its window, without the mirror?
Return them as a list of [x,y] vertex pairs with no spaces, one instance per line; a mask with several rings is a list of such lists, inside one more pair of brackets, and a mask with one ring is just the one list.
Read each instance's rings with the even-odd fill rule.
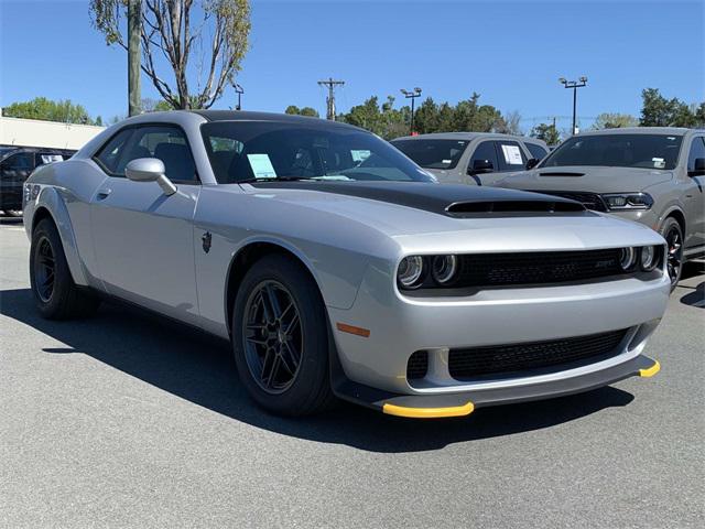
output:
[[[95,156],[107,174],[91,202],[98,272],[108,293],[194,323],[196,296],[193,217],[200,193],[183,130],[171,125],[122,129]],[[158,158],[177,186],[124,176],[128,162]]]

